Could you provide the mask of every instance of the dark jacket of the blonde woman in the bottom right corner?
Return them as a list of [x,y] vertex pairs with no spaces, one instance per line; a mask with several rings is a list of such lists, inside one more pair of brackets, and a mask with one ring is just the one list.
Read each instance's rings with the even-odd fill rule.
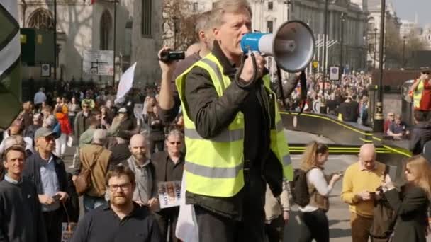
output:
[[428,198],[419,187],[403,187],[398,194],[396,189],[385,192],[385,197],[398,218],[393,231],[393,242],[425,242],[425,232],[428,226]]

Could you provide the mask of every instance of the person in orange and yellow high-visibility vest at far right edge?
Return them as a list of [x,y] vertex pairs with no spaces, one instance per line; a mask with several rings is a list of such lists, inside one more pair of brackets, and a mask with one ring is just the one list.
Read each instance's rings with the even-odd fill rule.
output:
[[424,115],[425,120],[431,119],[431,80],[430,69],[423,69],[419,79],[410,88],[413,95],[413,107]]

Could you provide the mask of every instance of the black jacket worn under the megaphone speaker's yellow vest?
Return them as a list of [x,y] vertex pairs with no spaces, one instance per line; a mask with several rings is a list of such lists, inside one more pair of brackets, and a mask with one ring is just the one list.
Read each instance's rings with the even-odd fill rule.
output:
[[[214,42],[212,53],[222,65],[223,74],[229,76],[232,82],[219,97],[208,72],[201,67],[191,69],[184,81],[184,105],[189,117],[196,125],[198,134],[210,139],[228,127],[238,112],[244,113],[244,157],[248,161],[245,167],[260,170],[257,182],[264,177],[274,195],[278,196],[282,188],[282,167],[269,149],[269,129],[275,127],[276,97],[265,90],[262,79],[245,86],[237,78],[237,68],[225,57],[217,42]],[[267,73],[265,70],[264,74]],[[226,217],[242,217],[242,192],[233,197],[207,197],[186,192],[186,203],[199,204]]]

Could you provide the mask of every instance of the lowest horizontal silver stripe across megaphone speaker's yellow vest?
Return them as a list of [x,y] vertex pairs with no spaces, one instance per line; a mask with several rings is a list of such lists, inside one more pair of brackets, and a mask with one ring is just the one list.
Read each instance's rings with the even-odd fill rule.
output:
[[186,161],[185,166],[187,172],[206,178],[236,178],[238,173],[242,170],[243,164],[241,163],[233,168],[220,168],[201,166]]

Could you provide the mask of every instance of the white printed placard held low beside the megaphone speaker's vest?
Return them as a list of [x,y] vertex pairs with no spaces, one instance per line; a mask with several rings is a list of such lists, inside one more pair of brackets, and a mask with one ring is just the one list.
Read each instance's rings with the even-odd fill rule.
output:
[[181,181],[158,183],[160,208],[177,207],[181,200]]

